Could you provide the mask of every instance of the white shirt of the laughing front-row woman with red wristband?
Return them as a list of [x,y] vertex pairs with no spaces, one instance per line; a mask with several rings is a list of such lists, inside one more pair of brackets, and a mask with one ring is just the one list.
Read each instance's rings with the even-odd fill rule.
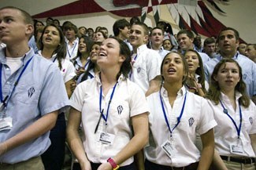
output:
[[[98,130],[95,133],[99,112],[101,81],[96,74],[95,78],[88,79],[77,85],[70,99],[71,106],[82,113],[82,126],[85,134],[83,147],[89,161],[104,163],[109,157],[116,156],[132,139],[131,118],[135,115],[149,111],[144,93],[128,78],[123,75],[117,82],[109,105],[106,132],[115,136],[113,145],[102,144],[98,141],[100,131],[105,128],[105,121],[101,118]],[[106,96],[102,95],[102,109],[107,110],[109,99],[113,89],[109,89]],[[106,111],[104,111],[106,114]],[[130,165],[133,157],[124,161],[121,166]]]

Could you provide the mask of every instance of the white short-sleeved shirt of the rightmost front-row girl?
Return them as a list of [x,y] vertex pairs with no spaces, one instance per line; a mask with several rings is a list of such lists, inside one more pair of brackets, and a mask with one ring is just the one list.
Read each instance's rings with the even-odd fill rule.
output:
[[[221,92],[221,102],[224,107],[228,110],[228,114],[236,121],[236,125],[239,127],[239,97],[241,94],[236,92],[236,110],[233,109],[228,96],[225,96]],[[214,112],[214,118],[217,121],[217,126],[214,128],[215,136],[215,148],[220,155],[223,156],[245,156],[255,157],[254,150],[250,142],[250,134],[256,133],[256,106],[250,101],[250,106],[245,108],[242,105],[242,129],[240,132],[240,139],[243,143],[243,154],[232,154],[230,152],[230,145],[236,145],[237,143],[237,132],[235,125],[232,120],[228,118],[227,114],[224,114],[221,103],[215,105],[212,101],[208,100],[210,107]]]

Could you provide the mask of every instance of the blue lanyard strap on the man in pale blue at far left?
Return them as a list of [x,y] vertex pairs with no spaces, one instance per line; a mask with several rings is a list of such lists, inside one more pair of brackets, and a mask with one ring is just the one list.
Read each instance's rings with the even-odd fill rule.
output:
[[[1,86],[1,88],[0,88],[0,99],[1,99],[1,102],[3,103],[3,105],[4,105],[5,107],[7,107],[7,104],[8,104],[8,102],[9,102],[9,99],[10,99],[11,96],[13,95],[13,92],[14,92],[14,90],[15,90],[15,88],[16,88],[18,82],[20,81],[20,78],[21,78],[22,74],[24,74],[24,71],[25,71],[26,68],[28,67],[28,64],[31,62],[31,60],[32,60],[33,57],[34,57],[34,56],[32,56],[31,59],[29,59],[28,62],[24,65],[22,71],[20,72],[20,75],[19,75],[18,78],[17,78],[17,81],[14,82],[13,90],[10,92],[9,95],[7,95],[7,96],[5,97],[5,99],[2,98],[2,63],[0,63],[0,86]],[[8,99],[8,100],[7,100],[7,99]]]

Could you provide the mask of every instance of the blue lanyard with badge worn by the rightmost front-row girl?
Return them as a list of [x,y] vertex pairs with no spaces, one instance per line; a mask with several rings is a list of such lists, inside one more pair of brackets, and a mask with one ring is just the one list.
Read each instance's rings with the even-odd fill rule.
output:
[[224,107],[224,104],[221,102],[221,107],[223,108],[223,113],[227,114],[228,118],[230,118],[230,120],[232,121],[232,123],[235,125],[236,127],[236,132],[237,132],[237,143],[235,144],[230,144],[230,152],[232,154],[243,154],[244,150],[243,150],[243,143],[242,143],[242,139],[240,139],[240,133],[241,133],[241,129],[242,129],[242,110],[239,104],[239,127],[236,125],[236,121],[231,117],[230,114],[228,114],[228,110]]

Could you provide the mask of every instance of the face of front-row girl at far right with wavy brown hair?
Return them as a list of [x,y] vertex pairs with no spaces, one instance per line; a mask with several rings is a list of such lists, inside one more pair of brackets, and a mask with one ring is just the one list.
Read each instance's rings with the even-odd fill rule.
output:
[[239,67],[236,63],[226,62],[221,65],[217,74],[213,76],[214,80],[222,92],[235,90],[237,83],[240,81]]

